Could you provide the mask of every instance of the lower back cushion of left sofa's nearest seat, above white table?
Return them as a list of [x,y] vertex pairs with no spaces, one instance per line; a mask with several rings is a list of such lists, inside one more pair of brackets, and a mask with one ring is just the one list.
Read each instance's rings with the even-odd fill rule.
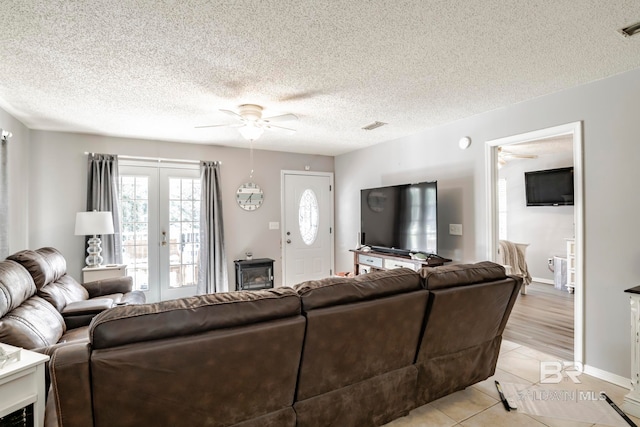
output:
[[35,295],[0,318],[0,342],[27,350],[53,345],[65,331],[60,313]]

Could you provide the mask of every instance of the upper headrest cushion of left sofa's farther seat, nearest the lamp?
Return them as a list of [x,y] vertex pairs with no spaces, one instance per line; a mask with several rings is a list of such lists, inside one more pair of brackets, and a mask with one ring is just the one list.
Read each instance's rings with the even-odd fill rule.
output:
[[54,248],[40,248],[37,251],[26,249],[9,256],[25,267],[41,289],[47,283],[58,280],[67,272],[67,262],[62,254]]

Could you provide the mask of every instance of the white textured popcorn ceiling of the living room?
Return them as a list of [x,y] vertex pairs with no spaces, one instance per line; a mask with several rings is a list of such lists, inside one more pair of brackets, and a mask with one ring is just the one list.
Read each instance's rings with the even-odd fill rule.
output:
[[256,103],[300,118],[256,148],[300,153],[640,67],[640,36],[617,32],[638,0],[2,0],[0,16],[0,107],[29,128],[246,147],[194,127]]

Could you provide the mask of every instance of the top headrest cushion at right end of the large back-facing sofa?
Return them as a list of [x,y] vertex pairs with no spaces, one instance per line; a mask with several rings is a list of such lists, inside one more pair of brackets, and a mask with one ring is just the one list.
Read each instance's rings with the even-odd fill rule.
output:
[[507,277],[503,266],[490,261],[424,267],[420,270],[420,276],[424,280],[425,289],[429,290],[490,282]]

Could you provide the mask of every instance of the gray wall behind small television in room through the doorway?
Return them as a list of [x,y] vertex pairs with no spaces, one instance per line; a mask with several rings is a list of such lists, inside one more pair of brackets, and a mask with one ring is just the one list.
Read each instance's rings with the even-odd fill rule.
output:
[[507,180],[507,240],[528,243],[527,267],[532,277],[553,282],[547,260],[566,257],[567,238],[574,238],[573,206],[527,206],[524,173],[573,166],[573,153],[540,155],[509,161],[499,171]]

